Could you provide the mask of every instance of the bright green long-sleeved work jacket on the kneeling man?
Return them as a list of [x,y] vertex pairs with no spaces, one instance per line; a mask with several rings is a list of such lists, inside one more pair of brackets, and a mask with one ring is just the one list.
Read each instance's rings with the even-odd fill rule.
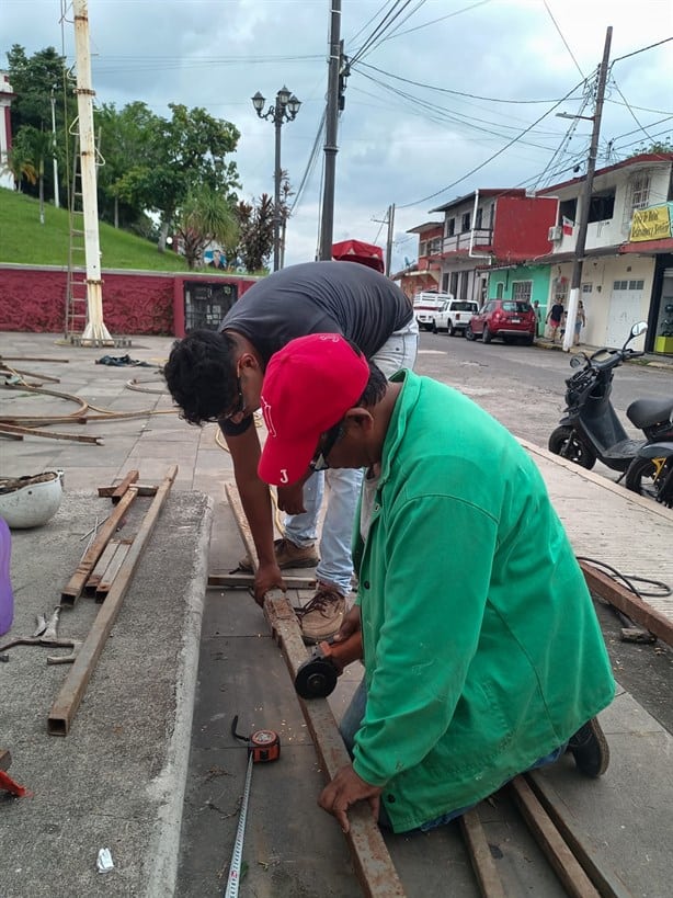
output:
[[403,386],[366,544],[355,530],[367,704],[353,765],[401,832],[495,792],[615,684],[528,454],[450,387],[392,379]]

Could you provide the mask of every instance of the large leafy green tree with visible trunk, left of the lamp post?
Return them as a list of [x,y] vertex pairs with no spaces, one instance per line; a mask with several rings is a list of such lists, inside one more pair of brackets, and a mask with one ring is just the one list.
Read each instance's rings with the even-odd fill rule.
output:
[[169,109],[171,120],[159,120],[145,158],[118,182],[119,196],[161,216],[160,251],[191,191],[207,186],[233,200],[240,186],[236,162],[227,160],[240,137],[236,126],[199,107],[169,103]]

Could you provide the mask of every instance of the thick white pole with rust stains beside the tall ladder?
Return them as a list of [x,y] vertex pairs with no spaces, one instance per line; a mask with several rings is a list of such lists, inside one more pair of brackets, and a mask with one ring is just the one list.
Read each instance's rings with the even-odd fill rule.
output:
[[77,111],[79,114],[79,151],[84,213],[84,257],[87,261],[87,327],[82,345],[114,345],[103,321],[103,281],[99,240],[99,202],[95,174],[95,135],[91,54],[89,52],[89,14],[87,0],[73,0],[75,53],[77,59]]

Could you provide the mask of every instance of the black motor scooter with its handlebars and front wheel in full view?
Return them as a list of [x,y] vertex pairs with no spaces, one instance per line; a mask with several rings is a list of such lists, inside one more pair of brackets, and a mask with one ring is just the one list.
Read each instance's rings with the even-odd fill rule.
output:
[[628,344],[647,329],[647,323],[639,321],[621,349],[606,346],[592,355],[582,352],[572,356],[571,367],[580,370],[566,380],[567,408],[549,437],[550,452],[589,469],[598,458],[624,474],[645,446],[673,443],[673,398],[636,399],[627,408],[627,418],[642,430],[645,440],[629,439],[611,401],[614,371],[624,361],[645,354]]

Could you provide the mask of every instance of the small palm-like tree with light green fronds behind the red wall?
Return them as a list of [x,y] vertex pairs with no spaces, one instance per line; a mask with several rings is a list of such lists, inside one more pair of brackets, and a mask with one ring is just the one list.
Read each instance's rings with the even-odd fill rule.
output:
[[202,184],[190,191],[175,215],[175,235],[181,239],[190,270],[203,259],[206,247],[236,241],[238,223],[229,200]]

